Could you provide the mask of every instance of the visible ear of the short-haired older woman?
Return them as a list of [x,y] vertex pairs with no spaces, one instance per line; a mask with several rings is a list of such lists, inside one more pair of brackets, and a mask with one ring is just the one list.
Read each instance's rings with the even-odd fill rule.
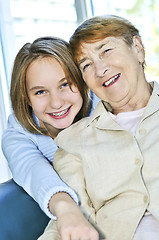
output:
[[139,36],[133,37],[133,46],[136,49],[138,61],[143,63],[145,61],[145,50],[142,43],[142,40]]

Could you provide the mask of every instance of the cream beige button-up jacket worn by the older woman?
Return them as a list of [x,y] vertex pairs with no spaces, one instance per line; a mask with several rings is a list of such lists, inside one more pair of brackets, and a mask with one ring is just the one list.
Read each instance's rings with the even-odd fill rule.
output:
[[106,239],[131,240],[147,209],[159,220],[157,83],[135,136],[100,102],[90,118],[62,131],[56,144],[55,169]]

